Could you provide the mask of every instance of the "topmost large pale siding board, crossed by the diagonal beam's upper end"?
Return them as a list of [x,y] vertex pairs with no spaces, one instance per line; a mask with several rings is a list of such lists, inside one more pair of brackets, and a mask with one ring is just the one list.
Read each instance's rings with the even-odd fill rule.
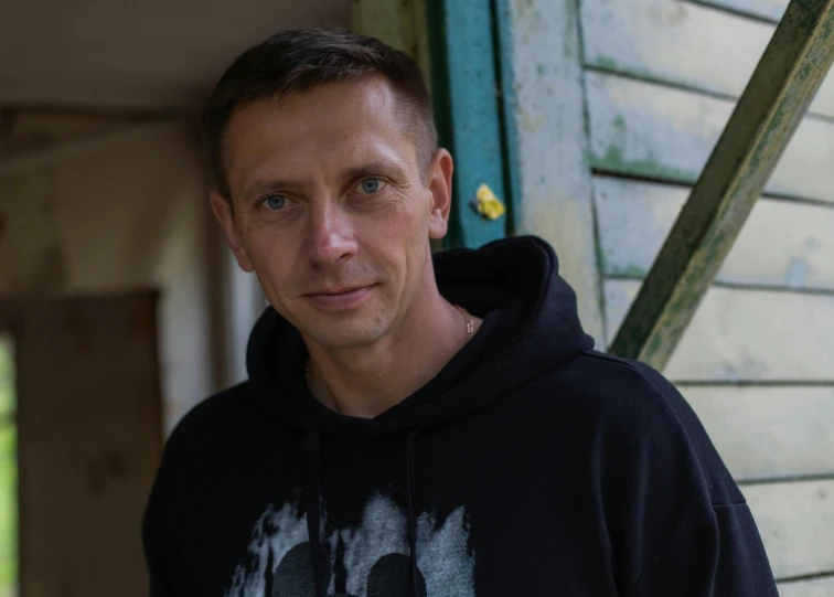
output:
[[[740,97],[776,31],[692,2],[585,0],[581,9],[586,64],[731,97]],[[834,116],[834,75],[810,111]]]

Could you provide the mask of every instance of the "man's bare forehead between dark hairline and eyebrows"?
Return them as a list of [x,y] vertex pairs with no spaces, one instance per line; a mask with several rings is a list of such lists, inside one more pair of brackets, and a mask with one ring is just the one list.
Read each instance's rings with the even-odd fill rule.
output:
[[[235,111],[226,132],[229,185],[263,174],[263,169],[298,173],[311,167],[384,153],[416,161],[407,118],[382,78],[329,83],[285,100],[257,100]],[[242,180],[244,179],[244,180]],[[237,183],[237,184],[236,184]]]

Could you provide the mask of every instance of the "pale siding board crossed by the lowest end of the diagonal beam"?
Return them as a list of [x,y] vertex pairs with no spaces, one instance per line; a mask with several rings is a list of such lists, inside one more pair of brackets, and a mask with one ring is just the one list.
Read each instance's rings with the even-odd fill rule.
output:
[[[640,284],[606,280],[610,338]],[[712,288],[665,374],[676,382],[832,381],[834,297]]]

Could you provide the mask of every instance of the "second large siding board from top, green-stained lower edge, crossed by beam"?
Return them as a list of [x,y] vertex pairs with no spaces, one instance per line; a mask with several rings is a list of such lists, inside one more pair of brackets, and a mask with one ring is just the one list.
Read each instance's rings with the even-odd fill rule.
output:
[[[616,75],[587,73],[591,162],[608,172],[693,183],[734,104]],[[767,186],[834,202],[834,122],[808,117]]]

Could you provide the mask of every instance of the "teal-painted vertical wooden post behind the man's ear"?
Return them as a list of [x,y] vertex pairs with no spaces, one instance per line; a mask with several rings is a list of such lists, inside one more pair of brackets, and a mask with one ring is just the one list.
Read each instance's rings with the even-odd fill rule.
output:
[[472,206],[481,184],[502,202],[507,196],[493,6],[483,0],[426,4],[438,132],[455,157],[447,246],[478,247],[506,233],[506,214],[490,221]]

